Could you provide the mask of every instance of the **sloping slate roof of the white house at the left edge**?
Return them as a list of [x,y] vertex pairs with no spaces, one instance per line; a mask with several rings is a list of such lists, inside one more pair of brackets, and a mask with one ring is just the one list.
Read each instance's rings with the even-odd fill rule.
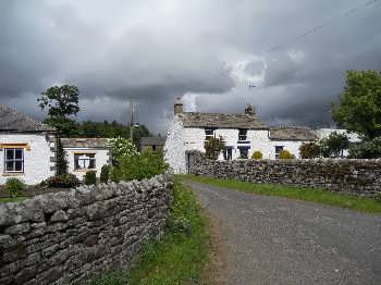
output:
[[0,131],[53,132],[54,128],[0,104]]

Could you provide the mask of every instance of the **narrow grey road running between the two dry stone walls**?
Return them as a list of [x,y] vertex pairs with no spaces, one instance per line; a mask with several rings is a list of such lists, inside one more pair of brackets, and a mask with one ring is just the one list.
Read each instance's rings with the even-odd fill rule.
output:
[[218,224],[222,284],[381,284],[381,215],[184,183]]

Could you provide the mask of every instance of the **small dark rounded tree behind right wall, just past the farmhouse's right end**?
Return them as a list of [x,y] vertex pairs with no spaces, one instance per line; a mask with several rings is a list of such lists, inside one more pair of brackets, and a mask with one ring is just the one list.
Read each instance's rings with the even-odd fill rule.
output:
[[333,132],[328,138],[319,141],[324,158],[343,156],[344,149],[349,147],[349,139],[345,134]]

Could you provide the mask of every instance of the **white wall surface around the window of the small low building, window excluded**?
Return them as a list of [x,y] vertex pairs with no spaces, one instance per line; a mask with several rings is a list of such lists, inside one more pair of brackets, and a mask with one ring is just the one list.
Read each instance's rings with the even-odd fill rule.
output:
[[64,148],[66,152],[66,159],[69,164],[69,173],[74,174],[78,179],[83,179],[83,176],[90,170],[74,170],[74,153],[95,153],[97,177],[100,176],[100,171],[105,164],[109,164],[109,150],[108,149],[94,149],[94,148]]

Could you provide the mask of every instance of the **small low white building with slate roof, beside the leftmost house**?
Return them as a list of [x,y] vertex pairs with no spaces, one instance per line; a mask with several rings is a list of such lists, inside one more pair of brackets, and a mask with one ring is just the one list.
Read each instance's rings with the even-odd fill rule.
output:
[[79,179],[87,171],[96,171],[97,177],[105,164],[110,164],[107,138],[62,138],[62,147],[66,152],[69,172]]

